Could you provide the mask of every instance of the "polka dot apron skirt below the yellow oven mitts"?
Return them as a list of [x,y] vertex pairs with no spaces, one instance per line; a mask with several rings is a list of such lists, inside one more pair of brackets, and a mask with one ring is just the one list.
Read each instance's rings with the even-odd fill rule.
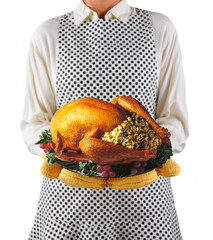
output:
[[29,239],[182,239],[170,178],[131,190],[93,190],[44,177]]

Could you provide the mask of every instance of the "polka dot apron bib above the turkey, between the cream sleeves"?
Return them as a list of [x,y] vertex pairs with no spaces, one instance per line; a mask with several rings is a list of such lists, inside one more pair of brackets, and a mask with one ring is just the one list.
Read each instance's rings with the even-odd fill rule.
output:
[[82,97],[111,102],[131,95],[154,117],[157,63],[149,12],[118,19],[84,21],[76,26],[71,13],[59,26],[56,81],[58,108]]

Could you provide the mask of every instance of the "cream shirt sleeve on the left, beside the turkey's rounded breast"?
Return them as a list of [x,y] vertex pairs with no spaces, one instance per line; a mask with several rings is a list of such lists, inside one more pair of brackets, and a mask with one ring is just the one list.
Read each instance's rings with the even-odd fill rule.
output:
[[[36,42],[39,39],[39,42]],[[27,58],[25,100],[20,122],[24,142],[35,155],[44,153],[39,145],[39,135],[49,130],[50,121],[56,111],[54,87],[51,81],[49,50],[43,36],[37,30],[30,42]],[[37,44],[38,43],[38,44]],[[38,49],[37,46],[40,46]]]

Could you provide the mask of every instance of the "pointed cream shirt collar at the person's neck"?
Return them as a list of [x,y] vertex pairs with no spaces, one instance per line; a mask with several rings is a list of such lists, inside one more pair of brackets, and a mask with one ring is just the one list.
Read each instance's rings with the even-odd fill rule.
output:
[[[121,0],[115,6],[113,6],[108,12],[111,12],[115,18],[119,19],[120,21],[126,23],[128,17],[131,13],[131,7],[128,5],[126,0]],[[107,12],[107,13],[108,13]],[[91,14],[95,13],[92,9],[90,9],[83,0],[80,0],[77,8],[74,10],[74,21],[76,25],[80,25],[84,22],[84,20]],[[106,14],[107,14],[106,13]]]

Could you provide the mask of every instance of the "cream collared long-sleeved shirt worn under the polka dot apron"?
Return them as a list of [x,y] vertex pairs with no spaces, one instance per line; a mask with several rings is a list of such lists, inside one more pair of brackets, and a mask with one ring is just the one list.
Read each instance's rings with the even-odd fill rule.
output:
[[[104,16],[117,18],[126,24],[128,17],[137,14],[134,7],[121,0]],[[76,26],[98,15],[80,0],[73,11]],[[189,135],[185,96],[185,79],[180,46],[173,23],[163,14],[150,12],[157,54],[158,90],[156,122],[171,132],[173,152],[181,152]],[[28,52],[25,102],[20,127],[28,150],[42,156],[35,145],[43,130],[48,130],[56,107],[56,68],[58,24],[60,16],[46,20],[35,30]]]

